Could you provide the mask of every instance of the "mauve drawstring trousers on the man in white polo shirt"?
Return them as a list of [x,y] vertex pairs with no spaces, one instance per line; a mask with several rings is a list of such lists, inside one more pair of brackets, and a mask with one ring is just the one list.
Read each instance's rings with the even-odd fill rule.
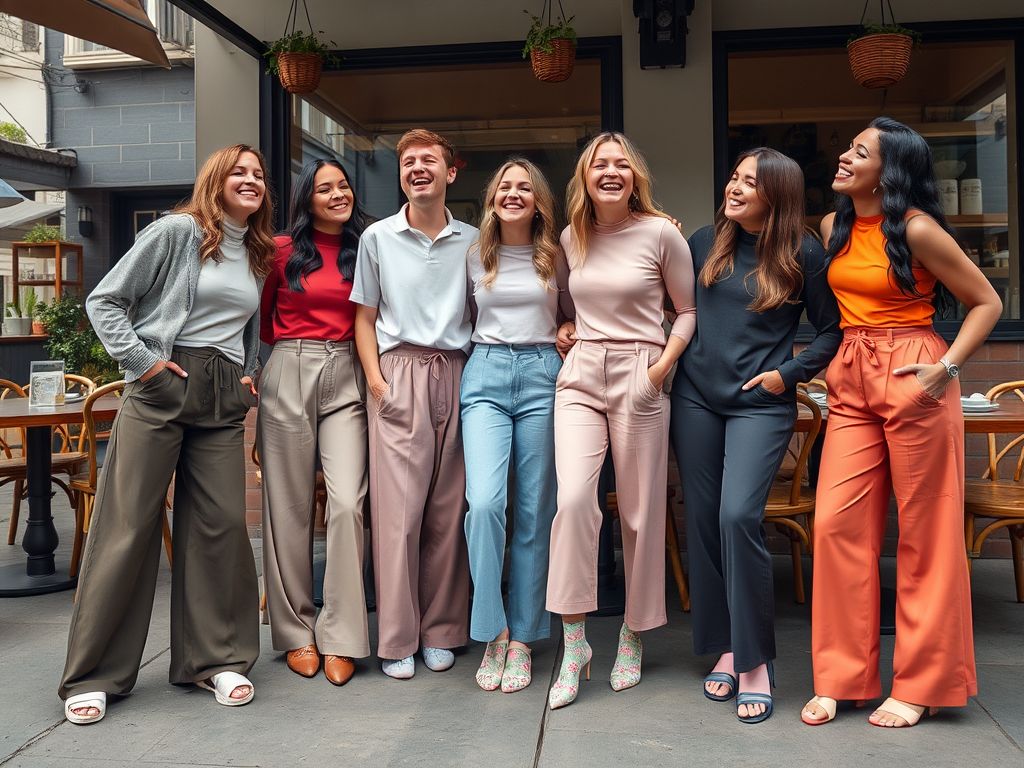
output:
[[469,640],[466,465],[459,386],[466,355],[401,344],[381,355],[388,391],[371,397],[370,500],[377,655]]

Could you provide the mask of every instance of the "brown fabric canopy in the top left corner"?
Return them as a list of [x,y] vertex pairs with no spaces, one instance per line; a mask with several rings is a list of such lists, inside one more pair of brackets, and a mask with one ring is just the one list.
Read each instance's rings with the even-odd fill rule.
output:
[[140,0],[0,0],[0,11],[171,69]]

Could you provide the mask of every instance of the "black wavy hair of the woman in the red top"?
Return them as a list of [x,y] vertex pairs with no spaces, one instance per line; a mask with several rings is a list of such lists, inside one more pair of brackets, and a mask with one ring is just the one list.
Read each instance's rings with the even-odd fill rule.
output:
[[352,215],[341,230],[341,249],[338,251],[338,271],[341,272],[343,281],[351,281],[355,274],[355,252],[359,247],[359,237],[370,223],[359,208],[355,187],[352,186],[351,179],[348,178],[348,173],[341,163],[336,160],[314,160],[307,163],[295,180],[292,191],[291,225],[287,232],[292,239],[292,255],[285,264],[285,280],[288,281],[288,287],[297,293],[305,292],[302,279],[324,266],[324,257],[313,243],[313,215],[309,207],[313,199],[316,172],[326,165],[341,171],[352,191]]

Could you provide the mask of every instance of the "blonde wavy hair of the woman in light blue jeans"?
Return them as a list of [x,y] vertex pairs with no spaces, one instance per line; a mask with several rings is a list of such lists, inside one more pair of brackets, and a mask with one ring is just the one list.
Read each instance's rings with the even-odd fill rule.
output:
[[495,210],[495,198],[498,187],[506,171],[518,166],[526,171],[529,184],[534,189],[534,203],[537,213],[534,214],[531,234],[534,238],[534,269],[537,276],[549,288],[551,279],[555,276],[555,259],[558,258],[558,234],[555,231],[555,196],[551,194],[548,180],[541,169],[525,158],[510,158],[487,182],[483,194],[483,215],[480,221],[480,237],[473,246],[479,249],[480,263],[483,265],[483,280],[480,281],[488,291],[495,285],[498,276],[498,247],[501,245],[502,226],[498,212]]

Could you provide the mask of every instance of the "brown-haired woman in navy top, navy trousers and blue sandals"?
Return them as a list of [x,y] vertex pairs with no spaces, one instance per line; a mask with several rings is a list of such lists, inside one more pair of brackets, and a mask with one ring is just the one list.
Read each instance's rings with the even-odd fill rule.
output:
[[[689,240],[697,332],[672,388],[686,504],[693,648],[717,653],[703,694],[736,716],[772,712],[775,609],[765,505],[797,418],[797,383],[839,348],[839,311],[804,230],[804,176],[769,148],[740,154],[714,226]],[[813,341],[796,357],[801,313]],[[737,679],[738,678],[738,679]]]

